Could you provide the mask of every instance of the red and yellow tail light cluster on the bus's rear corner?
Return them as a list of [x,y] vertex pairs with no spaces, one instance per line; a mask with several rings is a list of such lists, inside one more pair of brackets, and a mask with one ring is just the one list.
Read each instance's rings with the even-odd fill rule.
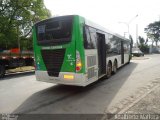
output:
[[79,72],[82,68],[82,62],[79,51],[76,51],[76,72]]

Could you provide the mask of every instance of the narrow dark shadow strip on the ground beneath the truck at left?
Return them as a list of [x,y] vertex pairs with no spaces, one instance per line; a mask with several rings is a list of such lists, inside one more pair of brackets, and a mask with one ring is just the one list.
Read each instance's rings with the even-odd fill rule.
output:
[[12,78],[19,78],[19,77],[30,76],[34,74],[35,74],[34,71],[9,73],[9,74],[6,74],[4,78],[0,78],[0,80],[11,80]]

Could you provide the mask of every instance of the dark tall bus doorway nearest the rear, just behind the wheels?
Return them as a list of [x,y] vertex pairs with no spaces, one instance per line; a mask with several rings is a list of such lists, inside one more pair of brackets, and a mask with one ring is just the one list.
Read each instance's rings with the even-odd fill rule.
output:
[[98,76],[106,74],[106,44],[105,35],[97,33],[97,52],[98,52]]

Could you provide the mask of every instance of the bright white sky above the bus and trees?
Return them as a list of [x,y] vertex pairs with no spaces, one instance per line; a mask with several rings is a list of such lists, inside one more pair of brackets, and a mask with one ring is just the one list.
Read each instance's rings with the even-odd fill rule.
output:
[[81,15],[122,36],[146,38],[144,28],[160,20],[160,0],[44,0],[52,16]]

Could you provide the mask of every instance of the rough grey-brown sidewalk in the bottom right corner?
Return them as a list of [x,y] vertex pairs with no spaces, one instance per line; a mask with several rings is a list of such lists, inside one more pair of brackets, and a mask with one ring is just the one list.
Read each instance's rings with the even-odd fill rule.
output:
[[160,120],[160,85],[144,94],[126,109],[102,120]]

